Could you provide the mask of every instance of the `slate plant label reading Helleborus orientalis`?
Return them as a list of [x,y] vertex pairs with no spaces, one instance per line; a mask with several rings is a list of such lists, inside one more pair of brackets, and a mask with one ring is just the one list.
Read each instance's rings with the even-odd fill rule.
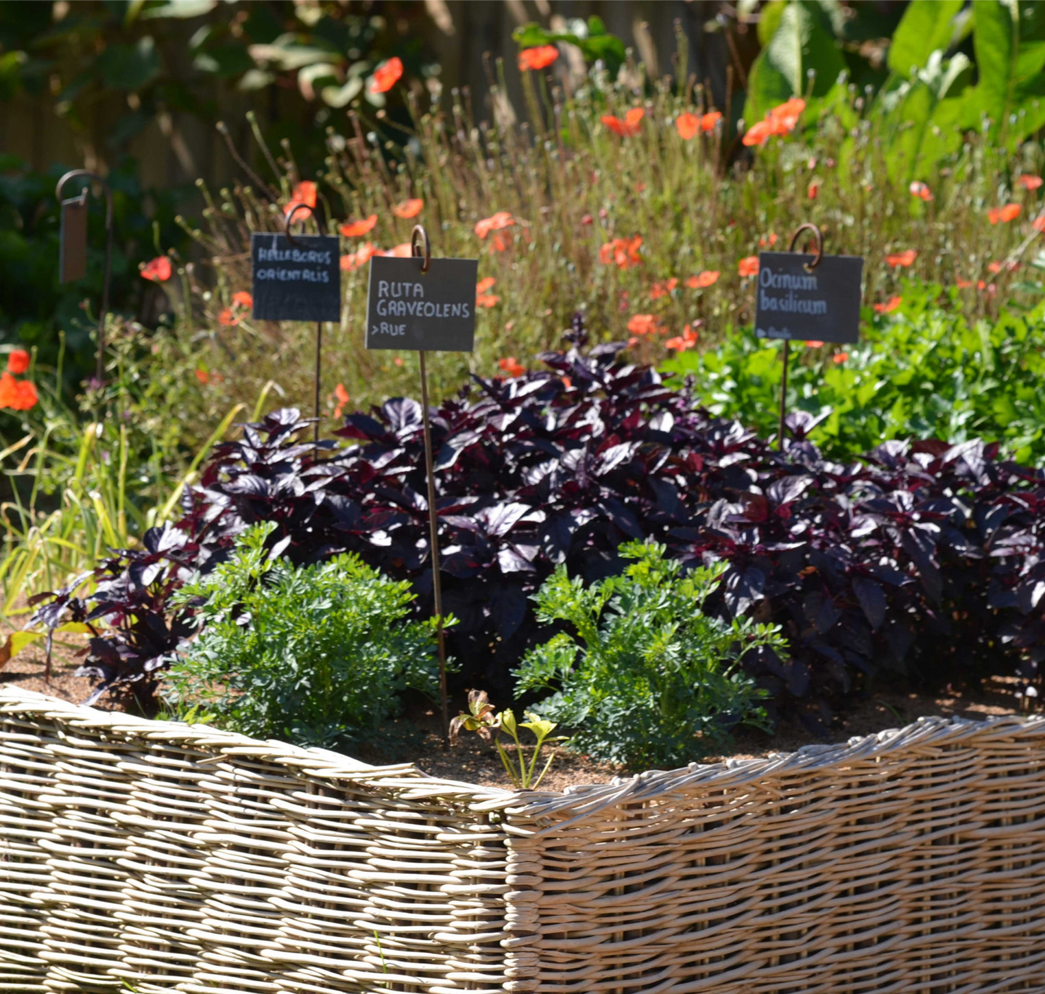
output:
[[251,296],[261,321],[341,321],[341,242],[330,235],[251,235]]

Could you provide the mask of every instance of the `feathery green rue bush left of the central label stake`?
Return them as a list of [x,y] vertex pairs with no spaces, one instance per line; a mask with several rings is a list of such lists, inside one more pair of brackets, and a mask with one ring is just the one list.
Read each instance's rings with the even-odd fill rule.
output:
[[200,633],[165,674],[164,701],[258,738],[357,745],[402,691],[435,693],[435,623],[408,620],[410,584],[357,556],[295,569],[266,546],[275,527],[245,532],[227,562],[179,591]]

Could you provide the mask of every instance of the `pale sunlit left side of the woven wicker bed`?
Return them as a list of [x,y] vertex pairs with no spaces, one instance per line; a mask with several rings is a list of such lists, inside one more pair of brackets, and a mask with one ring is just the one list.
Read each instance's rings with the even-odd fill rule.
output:
[[0,690],[0,992],[501,991],[511,796]]

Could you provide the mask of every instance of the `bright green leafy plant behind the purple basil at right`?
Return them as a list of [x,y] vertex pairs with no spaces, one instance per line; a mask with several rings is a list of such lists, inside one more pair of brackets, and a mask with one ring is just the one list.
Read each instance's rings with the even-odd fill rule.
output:
[[[810,439],[851,459],[890,438],[981,438],[1020,462],[1045,463],[1045,304],[970,320],[957,287],[903,291],[891,313],[864,311],[859,345],[792,349],[787,408],[812,415]],[[712,412],[775,434],[779,342],[738,330],[665,369],[689,377]]]

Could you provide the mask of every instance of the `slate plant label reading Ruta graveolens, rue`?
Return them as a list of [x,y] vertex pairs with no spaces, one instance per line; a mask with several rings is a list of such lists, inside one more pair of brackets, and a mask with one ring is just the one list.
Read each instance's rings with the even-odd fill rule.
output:
[[373,256],[367,348],[470,352],[475,341],[478,259]]

